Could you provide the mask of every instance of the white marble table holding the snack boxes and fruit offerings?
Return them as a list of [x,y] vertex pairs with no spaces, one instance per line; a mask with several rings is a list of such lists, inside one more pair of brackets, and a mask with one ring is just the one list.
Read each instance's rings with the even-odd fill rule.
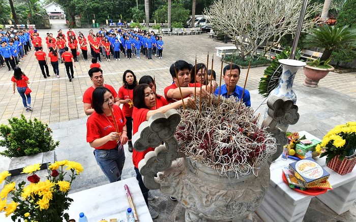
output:
[[[318,139],[305,131],[299,132],[299,135],[306,135],[307,139]],[[317,196],[317,198],[337,214],[341,214],[348,211],[356,199],[356,170],[341,176],[325,165],[325,158],[325,156],[317,157],[314,160],[330,173],[329,182],[334,189]],[[294,161],[290,158],[283,161],[279,157],[271,164],[271,180],[267,195],[261,206],[255,211],[265,222],[303,221],[310,200],[315,197],[295,192],[283,181],[283,166]]]

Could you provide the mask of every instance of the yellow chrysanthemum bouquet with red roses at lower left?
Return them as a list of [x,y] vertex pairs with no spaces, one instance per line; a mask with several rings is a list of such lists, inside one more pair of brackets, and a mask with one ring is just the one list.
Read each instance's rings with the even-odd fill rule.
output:
[[[13,221],[19,218],[25,222],[69,220],[68,213],[64,213],[73,201],[68,197],[68,192],[75,176],[83,171],[83,167],[73,161],[57,161],[49,165],[46,180],[40,181],[40,177],[35,173],[40,170],[40,166],[41,164],[34,164],[23,168],[22,173],[32,174],[27,177],[30,183],[26,185],[26,182],[22,181],[17,188],[15,182],[7,180],[11,175],[9,171],[0,173],[0,184],[4,180],[8,182],[0,192],[0,212],[5,211],[6,216],[13,213]],[[71,172],[69,180],[65,180],[68,170]],[[12,196],[12,202],[7,203],[9,194]]]

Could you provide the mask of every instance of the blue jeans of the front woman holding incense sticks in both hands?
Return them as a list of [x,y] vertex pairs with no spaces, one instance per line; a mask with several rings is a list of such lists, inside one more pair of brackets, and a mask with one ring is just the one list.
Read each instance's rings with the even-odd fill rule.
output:
[[121,180],[125,164],[124,147],[119,143],[114,149],[95,149],[95,159],[110,183]]

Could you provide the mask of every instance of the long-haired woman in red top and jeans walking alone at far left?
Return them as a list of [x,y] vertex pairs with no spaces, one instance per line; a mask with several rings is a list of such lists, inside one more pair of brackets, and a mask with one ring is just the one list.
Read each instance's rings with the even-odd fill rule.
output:
[[32,111],[31,107],[31,94],[25,94],[26,89],[28,88],[27,84],[29,84],[27,76],[21,71],[20,67],[15,67],[14,76],[11,78],[12,88],[15,94],[15,86],[17,86],[17,91],[22,98],[22,103],[25,108],[25,111]]

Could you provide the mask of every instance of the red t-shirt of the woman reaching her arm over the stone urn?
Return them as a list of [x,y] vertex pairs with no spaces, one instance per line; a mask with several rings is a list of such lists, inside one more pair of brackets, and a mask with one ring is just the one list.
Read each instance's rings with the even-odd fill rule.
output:
[[[147,112],[149,112],[149,109],[141,108],[137,109],[136,107],[133,110],[133,124],[132,124],[132,129],[133,129],[133,134],[137,133],[138,131],[138,126],[144,121],[146,121],[146,115]],[[134,166],[138,169],[138,163],[144,158],[144,155],[146,155],[147,152],[154,151],[155,149],[152,147],[147,148],[144,151],[138,152],[135,149],[132,152],[132,162]]]

